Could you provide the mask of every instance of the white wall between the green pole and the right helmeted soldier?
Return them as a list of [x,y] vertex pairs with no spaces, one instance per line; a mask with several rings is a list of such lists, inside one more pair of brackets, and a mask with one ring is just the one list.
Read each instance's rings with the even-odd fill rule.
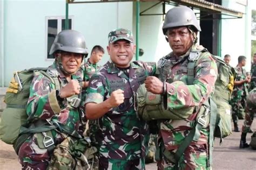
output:
[[[140,12],[156,4],[157,2],[140,2]],[[162,13],[162,5],[158,4],[144,14]],[[166,5],[166,12],[172,8]],[[139,60],[158,61],[161,57],[171,52],[171,48],[165,40],[162,31],[162,15],[140,16],[139,48],[144,50],[143,56]],[[133,33],[136,37],[136,3],[133,6]]]

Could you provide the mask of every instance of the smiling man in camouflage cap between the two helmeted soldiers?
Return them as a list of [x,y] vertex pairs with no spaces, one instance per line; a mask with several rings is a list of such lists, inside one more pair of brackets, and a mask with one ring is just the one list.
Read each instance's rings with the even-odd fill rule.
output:
[[86,117],[98,119],[99,169],[144,169],[149,128],[139,119],[136,91],[156,63],[133,61],[132,33],[109,33],[108,61],[91,77],[86,95]]

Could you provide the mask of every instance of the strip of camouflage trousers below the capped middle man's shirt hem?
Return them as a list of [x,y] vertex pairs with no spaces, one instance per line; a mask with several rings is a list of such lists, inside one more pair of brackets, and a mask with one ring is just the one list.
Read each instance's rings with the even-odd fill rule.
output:
[[145,169],[145,159],[118,160],[99,158],[99,170],[143,170]]

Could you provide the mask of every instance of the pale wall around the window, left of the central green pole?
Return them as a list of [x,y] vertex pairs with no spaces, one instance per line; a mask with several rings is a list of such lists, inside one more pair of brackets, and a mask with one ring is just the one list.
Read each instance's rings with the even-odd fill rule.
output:
[[[132,29],[132,8],[132,2],[69,4],[69,15],[74,16],[73,29],[84,34],[89,51],[95,45],[106,50],[111,30]],[[65,16],[65,1],[4,1],[4,86],[15,70],[51,65],[45,60],[46,16]],[[107,60],[106,52],[100,63]]]

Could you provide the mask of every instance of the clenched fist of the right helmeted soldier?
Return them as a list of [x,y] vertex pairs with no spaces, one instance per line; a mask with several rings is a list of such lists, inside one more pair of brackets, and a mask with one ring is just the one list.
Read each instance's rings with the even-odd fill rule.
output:
[[147,91],[150,91],[153,94],[162,94],[163,93],[163,82],[161,82],[155,76],[146,77],[145,87],[146,87]]

